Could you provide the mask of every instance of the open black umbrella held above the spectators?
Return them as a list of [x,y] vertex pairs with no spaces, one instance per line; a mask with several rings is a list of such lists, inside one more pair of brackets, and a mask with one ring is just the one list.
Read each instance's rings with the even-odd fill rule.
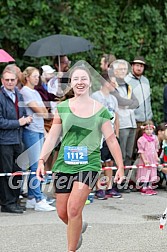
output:
[[45,57],[60,56],[91,50],[90,41],[70,35],[52,35],[33,42],[25,51],[24,56]]

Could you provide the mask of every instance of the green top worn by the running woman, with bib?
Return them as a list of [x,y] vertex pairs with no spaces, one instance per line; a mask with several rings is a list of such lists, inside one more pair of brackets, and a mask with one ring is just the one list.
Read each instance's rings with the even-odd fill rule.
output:
[[70,110],[69,100],[58,104],[57,110],[62,120],[62,142],[52,171],[70,174],[99,171],[101,127],[110,120],[108,110],[102,107],[96,114],[81,118]]

